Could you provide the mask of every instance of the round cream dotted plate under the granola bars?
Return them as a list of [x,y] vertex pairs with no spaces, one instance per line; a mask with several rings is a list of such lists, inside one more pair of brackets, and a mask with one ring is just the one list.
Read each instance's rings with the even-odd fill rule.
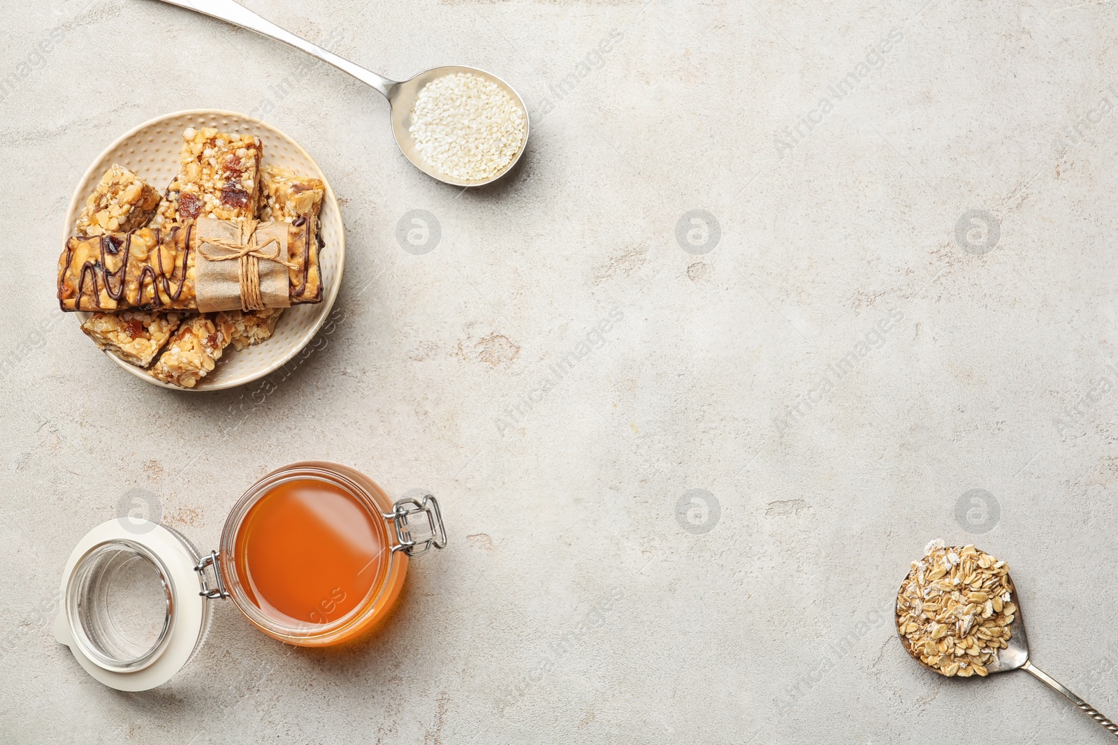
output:
[[[63,226],[63,245],[74,235],[77,216],[85,206],[85,200],[102,174],[113,163],[134,171],[136,175],[153,185],[160,193],[167,189],[174,174],[179,172],[179,149],[182,143],[182,131],[192,126],[200,130],[211,126],[222,132],[246,132],[255,134],[264,143],[264,160],[262,165],[271,163],[291,169],[301,175],[321,179],[326,184],[326,193],[322,200],[320,229],[325,248],[319,254],[319,267],[322,273],[322,302],[316,305],[295,305],[283,312],[276,324],[275,334],[266,342],[248,346],[239,352],[231,346],[226,347],[217,366],[198,381],[195,388],[179,388],[155,380],[142,367],[129,364],[115,354],[105,352],[116,364],[153,385],[162,385],[176,391],[218,391],[225,388],[244,385],[254,380],[275,372],[292,360],[300,350],[310,343],[319,328],[325,322],[330,309],[338,297],[342,284],[342,268],[345,265],[345,230],[342,226],[341,211],[333,189],[322,169],[305,150],[271,124],[266,124],[245,114],[221,112],[215,109],[196,109],[165,114],[144,122],[131,132],[124,134],[111,144],[89,165],[74,190],[66,220]],[[88,313],[74,314],[82,322],[89,317]],[[77,333],[82,333],[76,329]],[[89,342],[93,343],[92,341]]]

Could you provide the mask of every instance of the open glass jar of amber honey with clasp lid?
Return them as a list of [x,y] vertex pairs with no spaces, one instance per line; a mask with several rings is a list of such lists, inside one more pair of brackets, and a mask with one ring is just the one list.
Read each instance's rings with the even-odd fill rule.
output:
[[392,502],[352,468],[292,464],[237,500],[206,555],[158,523],[95,527],[63,573],[55,637],[105,685],[145,690],[187,665],[214,600],[281,641],[337,644],[388,614],[411,557],[445,545],[433,495]]

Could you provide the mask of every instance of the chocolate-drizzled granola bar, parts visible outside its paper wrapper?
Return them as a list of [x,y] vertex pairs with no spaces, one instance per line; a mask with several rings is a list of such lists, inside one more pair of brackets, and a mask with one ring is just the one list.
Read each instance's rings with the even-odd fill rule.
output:
[[[67,239],[58,257],[59,306],[95,312],[197,309],[193,228],[171,225]],[[288,255],[306,251],[307,237],[292,223]],[[310,256],[309,271],[318,276],[318,252]],[[297,295],[299,289],[288,285],[292,304],[322,299],[321,287],[313,298],[305,292]]]

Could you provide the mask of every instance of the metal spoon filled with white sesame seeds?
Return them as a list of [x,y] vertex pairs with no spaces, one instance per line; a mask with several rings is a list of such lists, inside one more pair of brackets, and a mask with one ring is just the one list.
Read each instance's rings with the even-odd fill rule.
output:
[[371,86],[391,107],[392,135],[411,163],[444,183],[483,187],[520,160],[528,108],[512,86],[475,67],[433,67],[390,80],[280,28],[234,0],[162,0],[290,44]]

